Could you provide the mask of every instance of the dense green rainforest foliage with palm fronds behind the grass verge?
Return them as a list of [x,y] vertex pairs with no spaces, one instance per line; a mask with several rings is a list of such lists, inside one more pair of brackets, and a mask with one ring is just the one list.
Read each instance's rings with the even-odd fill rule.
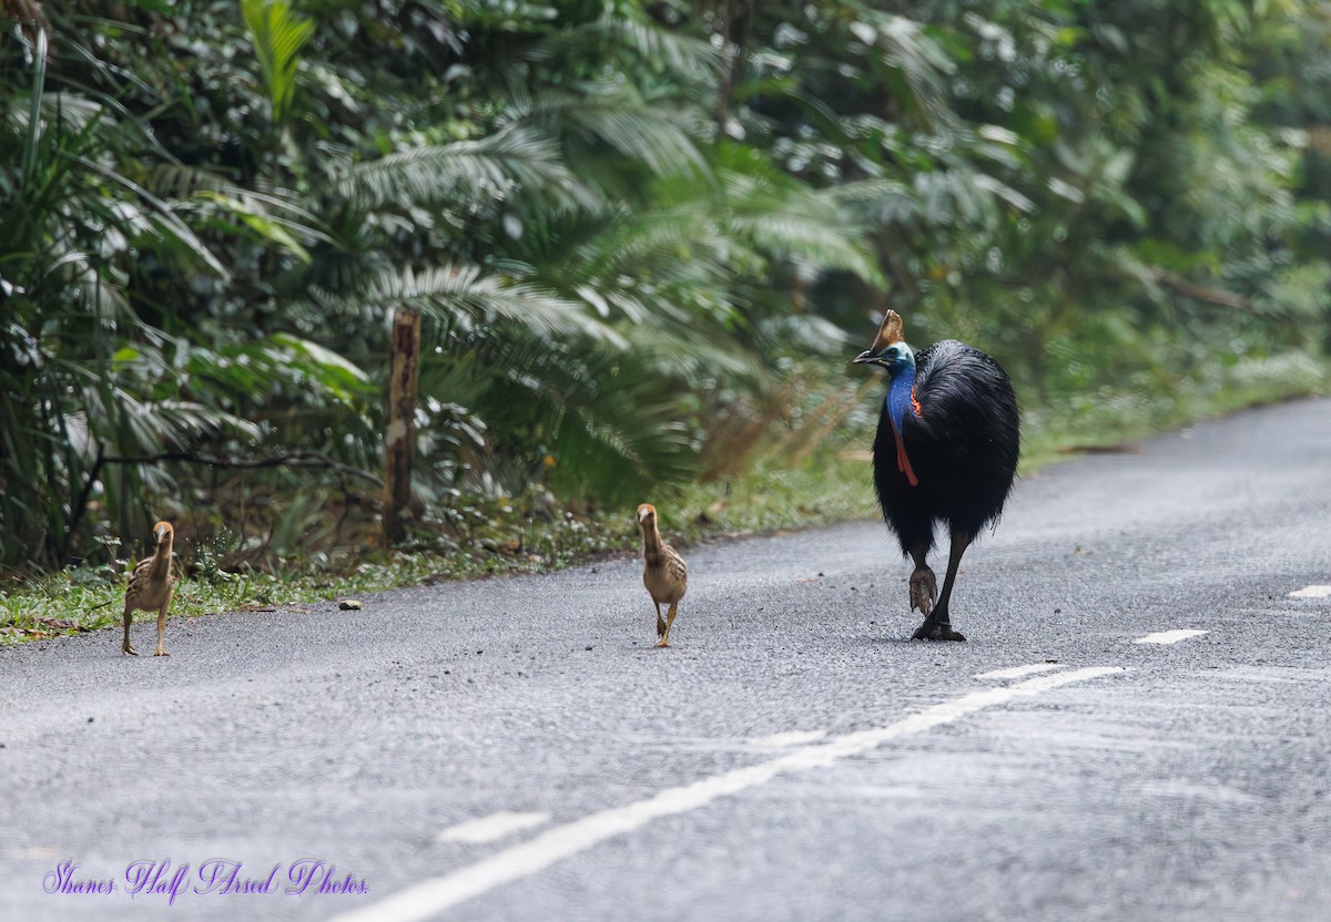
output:
[[862,442],[888,305],[1047,430],[1326,382],[1324,1],[4,11],[11,567],[374,545],[403,310],[421,547]]

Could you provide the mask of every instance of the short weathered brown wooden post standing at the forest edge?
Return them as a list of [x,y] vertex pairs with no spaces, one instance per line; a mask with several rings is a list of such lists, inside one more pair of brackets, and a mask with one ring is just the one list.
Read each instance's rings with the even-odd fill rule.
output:
[[393,374],[389,378],[389,430],[383,438],[383,539],[406,540],[411,507],[411,456],[415,454],[415,403],[421,377],[421,314],[393,314]]

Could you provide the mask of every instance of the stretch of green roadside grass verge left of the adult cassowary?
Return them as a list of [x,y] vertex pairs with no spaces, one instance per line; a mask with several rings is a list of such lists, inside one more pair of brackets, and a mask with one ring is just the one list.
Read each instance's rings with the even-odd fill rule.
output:
[[[759,470],[725,484],[699,484],[644,498],[660,510],[662,528],[679,545],[724,535],[809,528],[873,514],[865,460],[832,458],[800,470]],[[532,507],[539,508],[532,514]],[[636,553],[632,510],[550,512],[534,500],[462,510],[471,539],[439,551],[370,555],[327,565],[286,561],[277,572],[226,573],[200,567],[181,579],[172,619],[349,599],[369,592],[558,569],[600,555]],[[178,552],[188,548],[177,547]],[[204,571],[208,571],[206,575]],[[117,627],[125,576],[110,568],[64,569],[0,588],[0,644]],[[136,620],[156,615],[136,612]]]

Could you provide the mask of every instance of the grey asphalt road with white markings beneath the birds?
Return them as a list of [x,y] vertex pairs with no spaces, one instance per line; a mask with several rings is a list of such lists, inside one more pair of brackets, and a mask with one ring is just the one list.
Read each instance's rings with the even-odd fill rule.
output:
[[0,649],[0,918],[1331,919],[1331,402],[688,560]]

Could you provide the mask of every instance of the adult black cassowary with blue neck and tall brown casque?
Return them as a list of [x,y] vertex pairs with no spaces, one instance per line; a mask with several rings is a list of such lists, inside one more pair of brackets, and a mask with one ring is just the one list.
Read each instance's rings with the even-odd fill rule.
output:
[[[914,639],[965,640],[952,629],[948,604],[961,555],[998,520],[1012,491],[1021,447],[1012,381],[992,358],[956,339],[916,354],[902,342],[893,310],[855,361],[881,365],[890,375],[873,440],[873,484],[902,555],[914,560],[910,607],[925,616]],[[942,596],[926,561],[938,520],[952,534]]]

